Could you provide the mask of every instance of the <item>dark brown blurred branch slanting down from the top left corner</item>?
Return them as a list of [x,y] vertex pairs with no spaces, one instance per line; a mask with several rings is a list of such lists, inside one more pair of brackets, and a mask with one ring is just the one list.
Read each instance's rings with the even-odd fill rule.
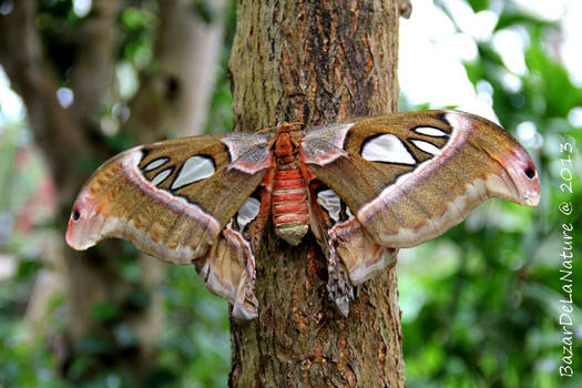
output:
[[57,100],[59,85],[43,58],[35,4],[14,1],[12,11],[0,16],[0,61],[27,105],[30,127],[59,188],[76,190],[68,184],[74,175],[71,161],[90,154],[91,146]]

